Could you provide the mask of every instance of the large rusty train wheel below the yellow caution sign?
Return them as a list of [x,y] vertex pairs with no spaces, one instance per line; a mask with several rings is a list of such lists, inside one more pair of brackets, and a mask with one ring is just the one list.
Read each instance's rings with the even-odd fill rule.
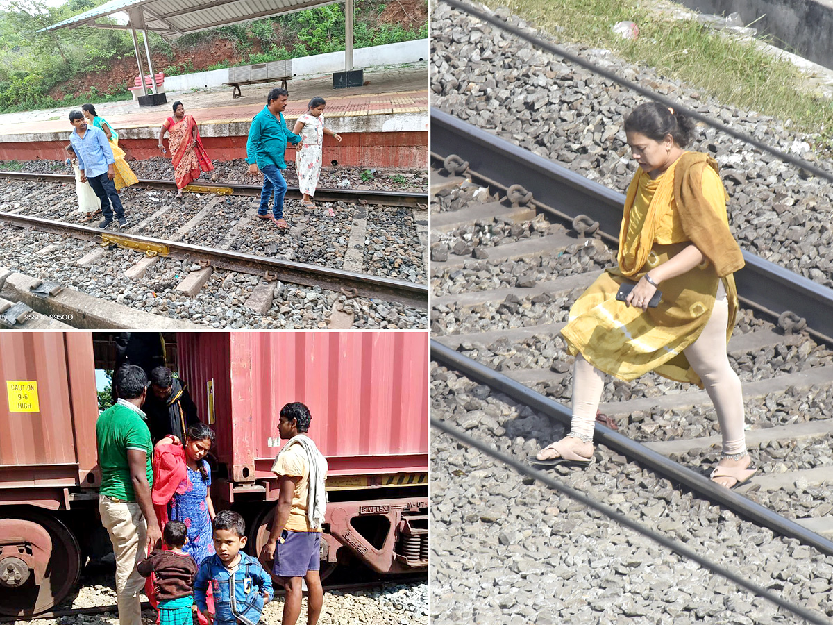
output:
[[[46,530],[52,539],[52,552],[40,584],[29,575],[22,585],[9,587],[9,582],[0,582],[0,614],[12,617],[27,617],[45,612],[62,602],[78,582],[81,575],[81,547],[75,535],[57,518],[47,517],[37,512],[18,512],[12,519],[5,521],[35,524],[35,530]],[[19,536],[17,536],[19,537]],[[24,540],[32,542],[29,537]],[[3,551],[4,554],[7,551]],[[17,558],[7,558],[8,567],[15,567]],[[23,567],[25,568],[25,567]],[[11,570],[11,569],[10,569]],[[24,575],[27,575],[27,572]]]

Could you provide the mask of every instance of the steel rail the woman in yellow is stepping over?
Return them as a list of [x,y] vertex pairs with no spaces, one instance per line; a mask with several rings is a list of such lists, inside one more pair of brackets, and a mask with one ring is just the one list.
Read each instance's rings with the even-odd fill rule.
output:
[[[462,356],[435,340],[431,340],[431,358],[436,360],[437,363],[455,369],[466,378],[486,384],[486,386],[503,393],[516,402],[522,403],[539,413],[546,414],[547,417],[556,419],[565,426],[570,425],[571,410],[563,404],[541,395],[541,393],[536,393],[531,388],[526,388],[523,384],[486,367],[486,365],[476,363],[476,361]],[[606,428],[601,423],[596,423],[593,438],[596,443],[606,445],[606,447],[621,453],[627,458],[633,458],[637,463],[651,468],[666,478],[681,483],[686,488],[691,488],[694,493],[720,503],[721,506],[729,508],[732,512],[736,512],[758,525],[769,527],[773,532],[778,532],[782,536],[796,538],[828,556],[833,556],[833,542],[827,538],[816,534],[816,532],[811,532],[806,527],[801,527],[795,521],[782,517],[780,514],[772,512],[769,508],[761,506],[761,504],[753,502],[729,488],[712,482],[706,476],[684,467],[680,463],[675,463],[661,453],[646,448],[642,443],[637,443],[623,434],[611,430],[611,428]]]

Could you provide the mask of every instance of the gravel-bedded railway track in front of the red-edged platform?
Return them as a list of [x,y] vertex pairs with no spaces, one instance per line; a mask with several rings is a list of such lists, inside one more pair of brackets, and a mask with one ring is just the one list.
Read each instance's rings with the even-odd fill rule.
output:
[[[424,195],[322,190],[314,212],[287,201],[292,228],[280,232],[257,220],[257,188],[250,185],[177,200],[159,191],[172,183],[142,181],[122,193],[131,224],[101,231],[97,221],[85,223],[85,215],[72,211],[74,184],[67,179],[0,176],[0,236],[7,242],[0,254],[0,316],[6,325],[426,325]],[[336,217],[324,206],[335,207]],[[38,280],[50,285],[45,297],[31,293]],[[126,310],[111,313],[114,306]]]

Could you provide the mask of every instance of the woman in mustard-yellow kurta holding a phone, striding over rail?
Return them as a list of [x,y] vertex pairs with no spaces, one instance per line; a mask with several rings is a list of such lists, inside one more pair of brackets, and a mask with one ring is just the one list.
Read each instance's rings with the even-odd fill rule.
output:
[[[732,273],[743,255],[729,231],[717,163],[683,150],[693,130],[688,118],[655,102],[626,117],[639,170],[627,191],[618,267],[576,300],[561,330],[576,357],[571,431],[533,463],[589,463],[604,374],[632,380],[654,371],[706,388],[714,403],[723,453],[711,479],[734,488],[755,473],[748,469],[741,381],[726,355],[737,312]],[[625,302],[616,300],[622,283],[636,283]],[[657,290],[661,302],[649,308]]]

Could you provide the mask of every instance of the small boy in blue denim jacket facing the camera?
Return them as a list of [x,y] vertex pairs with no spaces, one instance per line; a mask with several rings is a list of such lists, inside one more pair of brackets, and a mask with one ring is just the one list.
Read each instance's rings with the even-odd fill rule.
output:
[[[205,558],[194,581],[197,608],[216,625],[257,625],[263,606],[272,600],[272,577],[257,558],[242,552],[246,523],[237,512],[223,510],[214,517],[214,550]],[[208,613],[206,591],[212,585],[214,614]]]

